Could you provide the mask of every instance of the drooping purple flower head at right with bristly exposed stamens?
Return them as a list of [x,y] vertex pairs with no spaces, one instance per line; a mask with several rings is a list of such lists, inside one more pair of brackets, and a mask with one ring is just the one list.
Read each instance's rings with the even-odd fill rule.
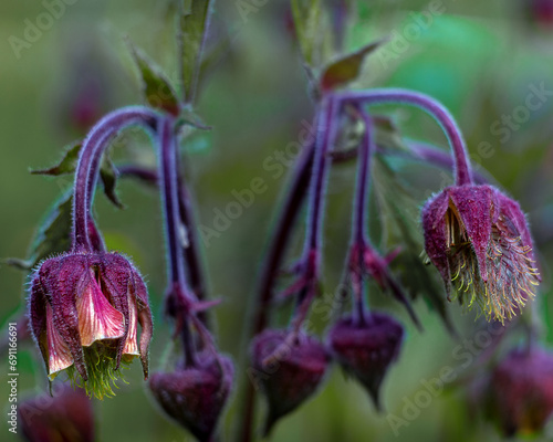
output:
[[535,294],[540,275],[519,204],[491,186],[444,189],[422,209],[425,248],[448,295],[488,319],[517,315]]

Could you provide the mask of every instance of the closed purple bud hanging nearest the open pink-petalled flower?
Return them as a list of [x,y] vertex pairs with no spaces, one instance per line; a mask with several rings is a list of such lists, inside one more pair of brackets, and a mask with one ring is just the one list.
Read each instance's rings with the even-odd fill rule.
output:
[[205,350],[194,367],[152,375],[149,389],[171,419],[204,442],[215,433],[232,378],[232,361]]

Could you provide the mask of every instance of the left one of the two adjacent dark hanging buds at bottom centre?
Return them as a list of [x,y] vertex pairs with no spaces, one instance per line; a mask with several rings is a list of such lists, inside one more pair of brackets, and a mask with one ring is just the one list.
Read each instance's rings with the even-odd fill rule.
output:
[[252,343],[252,365],[269,404],[264,434],[313,396],[328,366],[328,354],[312,336],[267,329]]

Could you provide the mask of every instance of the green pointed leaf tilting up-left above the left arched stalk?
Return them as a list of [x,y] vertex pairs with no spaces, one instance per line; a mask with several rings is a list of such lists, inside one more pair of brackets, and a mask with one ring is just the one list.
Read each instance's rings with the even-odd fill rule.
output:
[[127,43],[140,74],[143,94],[146,102],[152,107],[166,110],[171,115],[178,115],[180,106],[170,82],[143,51],[131,43],[131,41],[127,41]]

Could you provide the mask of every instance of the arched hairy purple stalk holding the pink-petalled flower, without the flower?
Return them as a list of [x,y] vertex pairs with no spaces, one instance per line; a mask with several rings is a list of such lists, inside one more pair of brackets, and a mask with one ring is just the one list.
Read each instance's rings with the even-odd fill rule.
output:
[[88,220],[94,196],[100,158],[109,146],[109,140],[119,130],[132,125],[152,126],[158,114],[147,107],[126,107],[107,114],[97,123],[83,143],[75,172],[73,192],[73,251],[94,251],[88,235]]

